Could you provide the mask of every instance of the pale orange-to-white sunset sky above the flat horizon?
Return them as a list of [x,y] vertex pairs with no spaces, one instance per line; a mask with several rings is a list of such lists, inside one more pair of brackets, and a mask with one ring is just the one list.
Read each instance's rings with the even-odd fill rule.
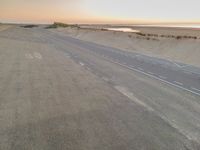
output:
[[199,0],[0,0],[0,22],[200,23]]

